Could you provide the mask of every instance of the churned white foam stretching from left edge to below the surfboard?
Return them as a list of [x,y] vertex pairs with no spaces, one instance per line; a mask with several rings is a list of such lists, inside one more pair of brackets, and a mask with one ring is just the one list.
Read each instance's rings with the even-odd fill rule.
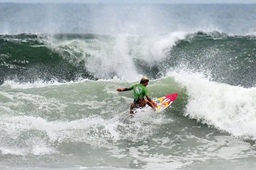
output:
[[[119,116],[122,116],[122,118],[120,119]],[[143,118],[137,119],[139,119],[137,122],[124,124],[123,114],[116,115],[111,119],[89,116],[88,118],[70,121],[53,121],[36,116],[2,114],[0,133],[2,137],[8,138],[0,145],[1,152],[17,155],[52,154],[57,152],[53,149],[56,143],[75,141],[87,143],[92,148],[115,150],[113,156],[121,156],[119,154],[123,151],[113,146],[113,142],[117,143],[120,140],[144,141],[154,134],[154,129],[158,127],[158,124],[167,122],[162,121],[165,118],[162,118],[160,114],[158,116],[143,116]],[[8,139],[12,139],[12,143],[8,143]],[[124,155],[121,157],[124,157]]]

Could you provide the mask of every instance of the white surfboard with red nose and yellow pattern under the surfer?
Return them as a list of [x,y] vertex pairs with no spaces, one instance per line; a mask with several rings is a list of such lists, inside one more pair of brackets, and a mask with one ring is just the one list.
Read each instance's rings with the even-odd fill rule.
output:
[[[167,109],[167,107],[169,107],[171,103],[173,103],[173,101],[175,101],[176,97],[177,97],[177,93],[166,95],[165,97],[160,97],[154,100],[154,102],[157,104],[157,108],[155,111],[154,109],[152,109],[152,107],[150,107],[149,105],[146,105],[145,107],[134,109],[134,114],[139,114],[141,112],[156,112],[156,113],[162,112],[165,109]],[[127,118],[132,118],[132,117],[133,115],[130,114]]]

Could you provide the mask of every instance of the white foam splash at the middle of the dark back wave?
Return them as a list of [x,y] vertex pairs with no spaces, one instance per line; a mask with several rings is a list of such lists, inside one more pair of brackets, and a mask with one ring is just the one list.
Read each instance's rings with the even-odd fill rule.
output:
[[42,39],[46,46],[58,52],[70,63],[85,61],[85,67],[97,78],[109,79],[117,75],[122,80],[135,81],[140,76],[135,62],[154,65],[162,61],[175,42],[186,33],[172,32],[164,35],[112,35],[95,39]]

